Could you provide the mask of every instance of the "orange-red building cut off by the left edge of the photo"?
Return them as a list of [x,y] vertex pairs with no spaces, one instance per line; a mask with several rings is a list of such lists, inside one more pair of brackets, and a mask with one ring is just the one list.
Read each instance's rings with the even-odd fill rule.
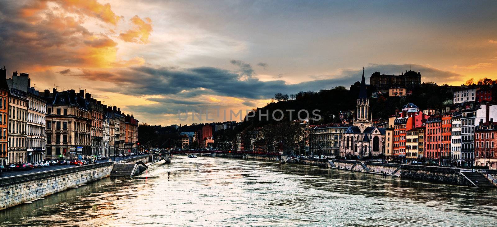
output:
[[8,163],[8,85],[6,82],[7,70],[0,69],[0,165]]

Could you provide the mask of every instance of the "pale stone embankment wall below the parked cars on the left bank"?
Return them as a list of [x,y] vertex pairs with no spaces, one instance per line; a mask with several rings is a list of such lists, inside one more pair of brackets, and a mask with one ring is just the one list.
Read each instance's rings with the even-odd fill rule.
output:
[[0,210],[108,177],[114,162],[0,179]]

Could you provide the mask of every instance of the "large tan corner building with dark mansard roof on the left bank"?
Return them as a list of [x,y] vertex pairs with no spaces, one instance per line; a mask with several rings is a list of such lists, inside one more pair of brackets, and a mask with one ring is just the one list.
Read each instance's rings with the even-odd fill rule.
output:
[[91,152],[91,110],[84,90],[45,90],[46,158],[81,159]]

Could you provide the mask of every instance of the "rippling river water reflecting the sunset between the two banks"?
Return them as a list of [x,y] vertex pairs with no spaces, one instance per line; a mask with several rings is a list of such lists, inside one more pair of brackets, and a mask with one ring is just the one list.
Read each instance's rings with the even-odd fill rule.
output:
[[174,156],[0,211],[1,226],[496,226],[497,190]]

